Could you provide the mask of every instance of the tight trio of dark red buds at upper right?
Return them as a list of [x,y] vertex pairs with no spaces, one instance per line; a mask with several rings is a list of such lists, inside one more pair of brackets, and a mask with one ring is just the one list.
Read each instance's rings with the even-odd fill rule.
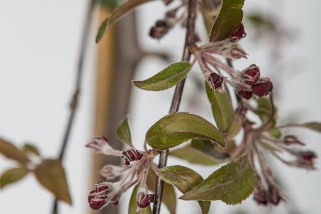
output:
[[238,93],[245,99],[250,99],[252,93],[259,97],[266,96],[273,89],[269,78],[260,78],[260,69],[254,64],[242,71],[242,80],[246,85],[251,86],[251,88],[239,86]]

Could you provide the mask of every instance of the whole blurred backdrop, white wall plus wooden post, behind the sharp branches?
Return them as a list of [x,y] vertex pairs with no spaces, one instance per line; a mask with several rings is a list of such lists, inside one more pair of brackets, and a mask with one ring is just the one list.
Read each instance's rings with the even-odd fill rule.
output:
[[[69,114],[68,105],[75,87],[81,36],[88,0],[0,1],[0,136],[23,145],[32,142],[43,156],[56,158]],[[87,193],[100,180],[97,170],[105,157],[93,155],[84,144],[94,135],[106,135],[111,142],[119,121],[128,113],[134,145],[142,148],[146,130],[168,114],[174,88],[154,93],[139,90],[130,80],[142,80],[157,73],[170,62],[181,59],[185,31],[174,28],[162,40],[148,36],[150,27],[164,17],[166,7],[154,1],[115,25],[97,46],[95,35],[112,4],[96,7],[84,61],[84,76],[79,106],[66,149],[64,167],[73,205],[61,202],[60,213],[90,213]],[[239,70],[250,64],[261,68],[262,76],[275,83],[279,123],[321,121],[321,72],[319,54],[321,35],[317,0],[246,0],[244,25],[247,37],[241,46],[247,60],[234,65]],[[258,31],[257,18],[265,24]],[[260,23],[260,21],[259,21]],[[207,35],[198,19],[202,39]],[[170,56],[165,60],[164,55]],[[205,117],[214,123],[198,67],[189,75],[180,111]],[[320,136],[295,129],[307,147],[321,150]],[[258,206],[250,196],[240,205],[212,202],[210,213],[320,213],[321,172],[289,168],[270,160],[274,173],[288,197],[278,207]],[[168,165],[189,163],[171,157]],[[0,155],[0,172],[15,165]],[[316,167],[320,168],[320,161]],[[218,166],[191,166],[208,176]],[[178,195],[181,193],[177,192]],[[126,213],[130,191],[120,200],[118,213]],[[51,213],[53,195],[40,186],[33,175],[0,189],[0,213]],[[109,207],[109,206],[108,206]],[[178,200],[178,213],[199,213],[196,202]],[[162,213],[169,213],[162,207]],[[96,212],[98,213],[98,212]],[[115,207],[100,213],[117,213]]]

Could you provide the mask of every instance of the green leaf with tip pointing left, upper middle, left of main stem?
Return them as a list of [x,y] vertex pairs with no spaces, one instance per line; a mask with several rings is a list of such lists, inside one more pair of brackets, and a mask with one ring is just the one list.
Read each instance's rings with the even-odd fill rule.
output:
[[191,68],[189,62],[177,62],[144,81],[133,81],[133,84],[148,91],[165,90],[179,83]]

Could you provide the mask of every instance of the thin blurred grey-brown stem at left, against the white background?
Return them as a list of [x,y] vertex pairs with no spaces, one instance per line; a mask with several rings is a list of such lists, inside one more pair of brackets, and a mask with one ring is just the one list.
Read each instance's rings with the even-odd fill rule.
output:
[[[70,103],[70,113],[69,113],[69,117],[68,117],[68,121],[67,121],[67,127],[65,129],[64,138],[63,138],[61,148],[60,148],[60,153],[58,156],[59,160],[61,160],[61,161],[64,158],[66,147],[69,142],[70,132],[71,132],[71,129],[72,129],[72,126],[74,123],[76,110],[78,107],[78,97],[79,97],[80,90],[81,90],[81,82],[82,82],[81,80],[82,80],[82,76],[83,76],[84,59],[85,59],[85,54],[86,54],[86,45],[87,45],[89,31],[90,31],[90,27],[91,27],[91,23],[92,23],[92,17],[93,17],[95,3],[96,3],[96,0],[90,0],[88,11],[87,11],[86,18],[85,18],[84,29],[83,29],[82,37],[81,37],[81,46],[80,46],[80,51],[79,51],[79,56],[78,56],[75,89],[74,89],[74,93],[72,95],[72,99],[71,99],[71,103]],[[55,198],[52,213],[53,214],[58,213],[57,198]]]

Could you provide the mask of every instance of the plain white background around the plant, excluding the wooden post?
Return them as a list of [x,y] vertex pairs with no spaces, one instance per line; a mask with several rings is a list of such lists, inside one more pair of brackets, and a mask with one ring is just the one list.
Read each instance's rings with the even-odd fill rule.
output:
[[[68,114],[68,103],[74,87],[77,52],[84,14],[88,1],[0,1],[0,136],[22,145],[32,142],[41,148],[43,156],[55,157],[60,148]],[[279,114],[282,119],[300,119],[300,121],[321,121],[319,92],[321,73],[319,72],[321,32],[318,20],[317,0],[309,1],[254,1],[247,0],[245,14],[259,10],[271,13],[279,18],[279,24],[289,28],[295,38],[283,43],[283,70],[274,71],[274,61],[269,53],[278,48],[271,40],[252,43],[251,31],[242,42],[242,47],[249,53],[248,60],[240,60],[235,65],[240,70],[249,64],[260,65],[262,76],[271,76],[273,81],[282,80],[274,91],[282,89],[277,99]],[[154,2],[140,7],[138,37],[144,49],[165,50],[180,59],[182,54],[184,31],[175,28],[161,42],[150,39],[149,27],[156,19],[162,18],[165,7],[162,2]],[[246,28],[247,29],[247,28]],[[199,30],[202,30],[201,28]],[[91,138],[95,45],[94,35],[90,37],[86,59],[83,92],[80,108],[65,158],[65,168],[73,196],[73,206],[62,205],[61,213],[86,213],[87,192],[90,188],[90,152],[84,148]],[[182,38],[182,39],[178,39]],[[275,62],[276,63],[276,62]],[[145,59],[140,63],[135,79],[144,79],[166,66],[156,58]],[[273,67],[274,66],[274,67]],[[198,74],[195,67],[194,75]],[[195,86],[187,81],[183,96],[182,111],[190,111],[208,118],[210,109],[204,94],[196,94]],[[140,147],[144,133],[157,119],[168,113],[173,89],[159,93],[141,91],[133,88],[131,110],[133,141]],[[196,98],[195,98],[196,97]],[[191,105],[192,104],[192,105]],[[320,135],[314,132],[294,130],[310,149],[320,151]],[[304,213],[318,214],[319,192],[321,192],[320,171],[304,171],[288,168],[277,161],[272,161],[275,173],[282,178],[289,207],[299,208]],[[170,159],[169,164],[186,162]],[[15,163],[0,156],[0,171]],[[320,168],[320,161],[316,163]],[[191,166],[202,175],[209,175],[213,167]],[[178,193],[179,194],[179,193]],[[120,207],[126,213],[127,198],[121,199]],[[50,213],[52,195],[28,175],[21,182],[0,190],[0,213]],[[248,209],[250,207],[250,209]],[[212,202],[211,213],[234,213],[246,208],[247,213],[287,213],[286,205],[277,209],[265,208],[263,211],[253,202],[252,197],[241,205],[227,206],[220,201]],[[179,213],[198,213],[196,203],[178,201]],[[167,213],[165,207],[162,213]]]

